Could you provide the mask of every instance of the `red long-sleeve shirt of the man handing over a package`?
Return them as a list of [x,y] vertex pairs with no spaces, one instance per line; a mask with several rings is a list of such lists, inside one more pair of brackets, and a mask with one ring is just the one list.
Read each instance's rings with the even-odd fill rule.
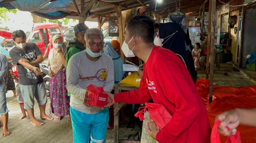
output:
[[209,143],[211,127],[205,105],[183,62],[172,51],[154,46],[144,63],[140,88],[114,95],[116,102],[145,103],[153,98],[172,120],[157,134],[159,143]]

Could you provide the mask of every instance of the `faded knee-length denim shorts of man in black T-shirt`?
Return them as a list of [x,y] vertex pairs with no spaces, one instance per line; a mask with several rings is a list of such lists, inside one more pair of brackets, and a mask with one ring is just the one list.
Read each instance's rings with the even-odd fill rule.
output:
[[35,104],[35,99],[38,101],[39,105],[47,104],[47,93],[44,82],[35,85],[20,84],[20,92],[24,99],[24,109],[32,109]]

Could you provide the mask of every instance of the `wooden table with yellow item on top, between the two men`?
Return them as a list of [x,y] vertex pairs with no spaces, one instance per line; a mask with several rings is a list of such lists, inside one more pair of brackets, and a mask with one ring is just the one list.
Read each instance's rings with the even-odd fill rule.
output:
[[[137,72],[132,73],[125,79],[115,84],[115,94],[122,92],[122,90],[130,91],[140,87],[140,82],[136,82],[140,76]],[[114,143],[119,143],[119,110],[122,108],[124,103],[114,104]]]

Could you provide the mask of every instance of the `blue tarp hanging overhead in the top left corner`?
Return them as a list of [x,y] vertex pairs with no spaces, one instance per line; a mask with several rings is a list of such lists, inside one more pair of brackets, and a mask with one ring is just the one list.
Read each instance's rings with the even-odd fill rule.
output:
[[2,3],[2,1],[0,0],[0,7],[29,11],[47,19],[61,19],[70,16],[70,11],[67,8],[74,6],[73,0],[56,0],[53,2],[50,2],[51,0],[15,0],[7,4]]

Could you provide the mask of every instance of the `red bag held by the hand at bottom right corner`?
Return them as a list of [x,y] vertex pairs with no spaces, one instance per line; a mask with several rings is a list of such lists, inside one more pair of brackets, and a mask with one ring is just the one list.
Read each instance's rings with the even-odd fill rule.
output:
[[[218,126],[221,124],[221,121],[215,121],[212,127],[212,134],[211,134],[211,143],[221,143],[221,137],[218,134]],[[236,132],[235,135],[227,137],[225,143],[241,143],[240,133]]]

